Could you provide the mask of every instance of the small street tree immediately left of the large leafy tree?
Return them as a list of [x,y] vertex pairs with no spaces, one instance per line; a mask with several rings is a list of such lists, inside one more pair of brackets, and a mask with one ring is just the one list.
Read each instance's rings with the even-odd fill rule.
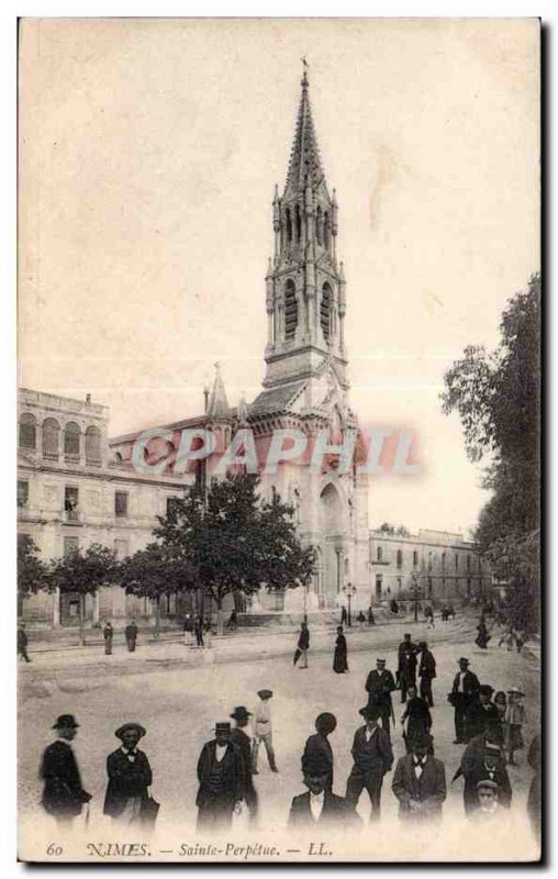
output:
[[189,563],[167,553],[161,544],[150,543],[120,563],[119,582],[126,592],[154,602],[154,635],[158,637],[160,599],[191,588],[193,579]]

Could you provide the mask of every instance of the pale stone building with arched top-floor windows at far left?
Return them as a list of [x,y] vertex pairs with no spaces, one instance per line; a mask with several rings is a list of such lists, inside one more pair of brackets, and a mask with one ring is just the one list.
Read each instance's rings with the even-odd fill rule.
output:
[[[29,534],[44,559],[100,543],[120,558],[153,539],[157,515],[183,491],[185,480],[136,474],[109,460],[108,408],[83,400],[20,391],[18,532]],[[77,594],[38,592],[21,602],[37,626],[78,624]],[[172,614],[175,599],[163,607]],[[110,617],[148,616],[150,602],[118,587],[87,597],[89,624]]]

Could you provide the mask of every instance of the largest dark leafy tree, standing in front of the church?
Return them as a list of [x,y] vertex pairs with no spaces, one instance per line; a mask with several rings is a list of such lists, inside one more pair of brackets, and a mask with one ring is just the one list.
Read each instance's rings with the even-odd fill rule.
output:
[[220,631],[227,594],[306,585],[314,570],[314,550],[301,546],[293,509],[278,498],[261,501],[258,482],[257,476],[230,474],[213,480],[205,498],[192,490],[154,532],[167,558],[189,566],[190,588],[213,599]]

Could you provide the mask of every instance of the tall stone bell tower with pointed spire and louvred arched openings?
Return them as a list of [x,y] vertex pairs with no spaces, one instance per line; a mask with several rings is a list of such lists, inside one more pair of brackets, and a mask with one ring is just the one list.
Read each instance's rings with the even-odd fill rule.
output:
[[274,258],[266,276],[265,388],[313,378],[327,364],[348,389],[337,201],[330,196],[312,120],[306,64],[287,180],[272,202]]

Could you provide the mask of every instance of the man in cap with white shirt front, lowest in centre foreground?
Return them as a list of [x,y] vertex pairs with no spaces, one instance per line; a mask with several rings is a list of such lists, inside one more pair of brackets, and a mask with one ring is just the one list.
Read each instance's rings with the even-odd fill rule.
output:
[[293,798],[289,827],[310,830],[320,825],[342,830],[359,824],[354,806],[327,789],[328,771],[330,763],[323,752],[314,750],[302,757],[302,775],[308,793]]

